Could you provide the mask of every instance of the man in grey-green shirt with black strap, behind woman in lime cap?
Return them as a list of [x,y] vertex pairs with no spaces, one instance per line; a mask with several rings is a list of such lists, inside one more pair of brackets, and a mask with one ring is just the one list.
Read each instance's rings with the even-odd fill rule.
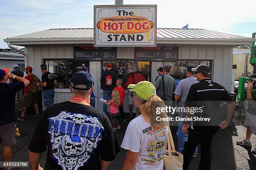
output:
[[[170,66],[164,66],[164,74],[157,77],[154,86],[156,87],[156,95],[164,101],[172,101],[172,95],[176,89],[175,79],[169,75]],[[164,80],[164,84],[163,84]]]

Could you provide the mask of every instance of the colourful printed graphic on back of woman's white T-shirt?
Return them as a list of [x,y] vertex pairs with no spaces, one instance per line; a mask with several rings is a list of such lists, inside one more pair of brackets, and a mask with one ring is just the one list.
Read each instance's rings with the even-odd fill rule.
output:
[[147,133],[147,135],[154,136],[154,140],[148,140],[147,143],[147,152],[151,159],[141,158],[141,161],[143,161],[144,164],[154,165],[160,163],[161,160],[164,159],[167,148],[168,135],[166,132],[167,127],[160,130],[154,130],[151,126],[143,130],[143,134]]

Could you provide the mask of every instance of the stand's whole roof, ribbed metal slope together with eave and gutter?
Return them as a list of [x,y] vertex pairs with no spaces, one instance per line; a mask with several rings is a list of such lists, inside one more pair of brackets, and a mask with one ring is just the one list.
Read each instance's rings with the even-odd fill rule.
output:
[[[11,45],[82,45],[93,44],[93,28],[58,28],[4,39]],[[157,44],[250,45],[256,39],[205,29],[157,28]]]

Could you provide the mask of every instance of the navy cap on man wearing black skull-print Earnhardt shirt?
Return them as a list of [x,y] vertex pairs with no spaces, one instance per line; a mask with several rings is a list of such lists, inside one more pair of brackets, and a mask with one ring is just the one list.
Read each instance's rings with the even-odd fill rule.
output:
[[[75,90],[90,90],[93,85],[92,76],[85,71],[76,72],[71,77],[70,85]],[[86,85],[87,88],[77,88],[77,87],[74,87],[75,85]]]

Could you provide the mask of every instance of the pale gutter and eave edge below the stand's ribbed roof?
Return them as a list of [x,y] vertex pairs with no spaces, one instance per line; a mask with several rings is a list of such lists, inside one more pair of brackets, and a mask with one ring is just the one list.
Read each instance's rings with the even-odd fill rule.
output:
[[[66,45],[66,44],[93,44],[93,38],[12,38],[4,39],[12,45]],[[240,46],[251,45],[254,38],[157,38],[157,44],[179,45],[209,45],[209,46]]]

